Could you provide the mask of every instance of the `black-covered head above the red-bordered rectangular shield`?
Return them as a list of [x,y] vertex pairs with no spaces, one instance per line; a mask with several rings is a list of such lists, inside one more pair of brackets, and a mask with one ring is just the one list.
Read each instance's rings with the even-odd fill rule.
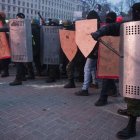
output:
[[106,23],[114,23],[116,22],[117,14],[115,12],[109,12],[106,15]]

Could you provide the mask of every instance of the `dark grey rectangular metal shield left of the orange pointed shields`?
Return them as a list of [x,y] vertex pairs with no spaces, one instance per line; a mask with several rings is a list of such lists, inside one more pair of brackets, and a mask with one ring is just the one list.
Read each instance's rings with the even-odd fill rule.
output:
[[59,26],[42,26],[42,63],[60,64]]

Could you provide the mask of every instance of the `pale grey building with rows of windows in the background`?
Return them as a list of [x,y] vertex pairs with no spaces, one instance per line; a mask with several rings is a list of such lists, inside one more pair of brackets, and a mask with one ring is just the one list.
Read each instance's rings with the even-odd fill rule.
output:
[[43,18],[73,20],[74,12],[82,12],[81,0],[0,0],[0,11],[7,18],[15,18],[22,12],[26,18],[38,18],[38,12]]

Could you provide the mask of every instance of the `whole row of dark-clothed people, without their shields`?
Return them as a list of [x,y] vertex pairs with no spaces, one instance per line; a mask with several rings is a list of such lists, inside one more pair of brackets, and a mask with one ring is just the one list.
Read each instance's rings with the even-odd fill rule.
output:
[[[136,3],[132,7],[133,20],[140,20],[140,3]],[[0,12],[0,20],[5,23],[5,14]],[[18,13],[17,18],[25,18],[23,13]],[[87,19],[97,19],[98,21],[98,31],[92,33],[93,39],[98,41],[98,38],[104,35],[119,35],[119,26],[117,21],[117,15],[115,12],[109,12],[106,15],[105,26],[100,27],[101,19],[97,12],[94,10],[89,12]],[[122,22],[119,20],[119,22]],[[42,21],[43,25],[46,26],[46,23]],[[121,23],[119,23],[120,25]],[[112,26],[114,25],[114,26]],[[47,26],[63,26],[66,30],[75,30],[75,23],[71,21],[64,21],[62,25],[59,24],[57,20],[50,20]],[[111,26],[111,29],[109,27]],[[118,28],[117,28],[117,27]],[[116,29],[117,28],[117,29]],[[114,30],[116,29],[116,30]],[[8,27],[5,29],[0,29],[0,32],[8,32]],[[113,31],[113,33],[112,33]],[[10,86],[21,85],[22,81],[27,79],[35,79],[35,76],[47,76],[46,82],[51,83],[55,82],[57,79],[62,77],[67,77],[68,83],[64,85],[64,88],[75,88],[75,78],[78,78],[79,81],[83,82],[82,88],[80,91],[75,92],[77,96],[89,96],[89,87],[98,89],[99,80],[96,79],[96,66],[98,59],[98,47],[99,43],[97,42],[95,48],[89,54],[87,58],[78,50],[75,58],[69,62],[65,54],[61,51],[62,64],[60,65],[42,65],[40,60],[40,24],[37,20],[32,21],[32,35],[33,35],[33,63],[14,63],[16,67],[16,78],[13,82],[10,83]],[[0,71],[1,77],[9,76],[9,64],[11,63],[10,59],[0,60]],[[34,64],[34,65],[33,65]],[[58,74],[59,73],[59,74]],[[95,106],[104,106],[108,102],[108,96],[118,96],[116,81],[114,79],[102,79],[102,87],[100,97],[95,103]],[[128,105],[128,108],[125,110],[119,109],[118,113],[121,115],[129,116],[129,122],[126,128],[117,133],[117,137],[120,139],[128,139],[136,135],[136,119],[140,115],[140,101],[139,100],[129,100],[125,99]]]

